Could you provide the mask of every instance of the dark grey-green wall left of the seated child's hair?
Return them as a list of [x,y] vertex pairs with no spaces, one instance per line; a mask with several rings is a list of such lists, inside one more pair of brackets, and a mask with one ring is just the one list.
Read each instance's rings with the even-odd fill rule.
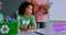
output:
[[1,0],[3,4],[2,13],[4,16],[15,18],[15,11],[25,0]]

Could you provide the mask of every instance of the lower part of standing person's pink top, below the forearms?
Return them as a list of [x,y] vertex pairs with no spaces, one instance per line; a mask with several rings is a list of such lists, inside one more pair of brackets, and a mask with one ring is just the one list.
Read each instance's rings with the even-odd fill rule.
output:
[[41,11],[34,14],[36,22],[46,22],[47,14],[43,14]]

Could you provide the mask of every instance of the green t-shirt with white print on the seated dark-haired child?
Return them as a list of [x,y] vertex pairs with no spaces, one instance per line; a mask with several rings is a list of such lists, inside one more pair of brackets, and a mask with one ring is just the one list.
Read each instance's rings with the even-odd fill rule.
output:
[[20,25],[25,26],[25,27],[30,25],[36,26],[36,22],[33,15],[29,15],[28,18],[24,18],[23,15],[19,15],[19,18],[20,18],[19,19]]

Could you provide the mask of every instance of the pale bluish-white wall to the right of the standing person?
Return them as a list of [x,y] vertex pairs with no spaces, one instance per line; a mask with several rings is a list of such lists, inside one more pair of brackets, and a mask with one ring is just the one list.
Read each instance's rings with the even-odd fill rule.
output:
[[50,21],[66,21],[66,0],[51,0]]

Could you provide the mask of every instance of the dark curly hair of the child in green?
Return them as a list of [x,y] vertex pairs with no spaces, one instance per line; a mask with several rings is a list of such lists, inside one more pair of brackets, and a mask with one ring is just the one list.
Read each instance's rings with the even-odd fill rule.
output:
[[[25,13],[25,9],[29,5],[33,7],[33,4],[31,2],[23,2],[23,3],[21,3],[21,5],[19,7],[19,14],[24,14]],[[32,10],[34,10],[34,7],[33,7]]]

